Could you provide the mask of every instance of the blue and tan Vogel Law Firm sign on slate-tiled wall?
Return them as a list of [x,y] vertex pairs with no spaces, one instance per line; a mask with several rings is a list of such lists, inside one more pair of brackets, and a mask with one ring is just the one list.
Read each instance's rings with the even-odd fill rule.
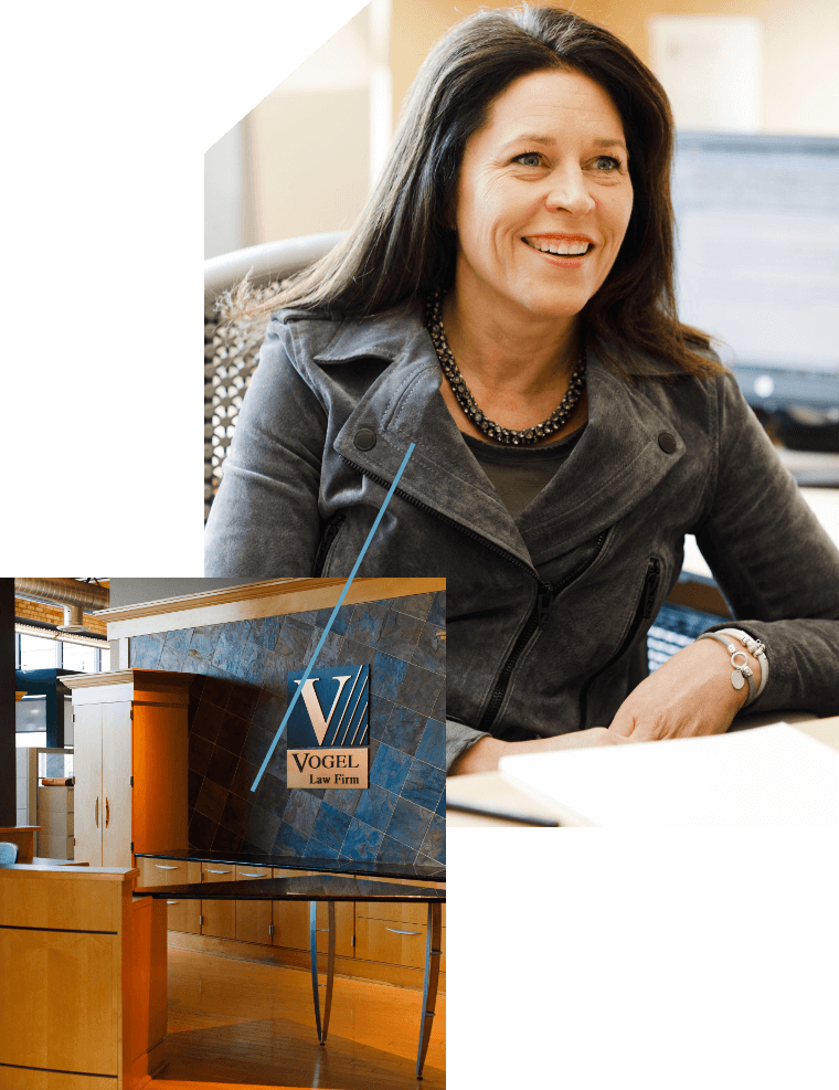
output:
[[[288,702],[306,670],[288,674]],[[288,787],[369,787],[370,666],[314,668],[286,732]]]

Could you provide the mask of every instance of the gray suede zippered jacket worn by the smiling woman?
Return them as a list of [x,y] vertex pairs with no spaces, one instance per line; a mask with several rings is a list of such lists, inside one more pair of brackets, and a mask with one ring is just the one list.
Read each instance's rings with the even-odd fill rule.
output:
[[[629,366],[638,374],[637,358]],[[660,369],[660,363],[657,364]],[[649,371],[649,366],[646,368]],[[588,349],[588,424],[513,520],[439,393],[418,310],[272,316],[205,529],[205,575],[445,575],[447,768],[484,734],[608,727],[686,533],[766,645],[750,712],[839,712],[839,551],[736,380],[636,385]],[[778,718],[783,718],[779,716]]]

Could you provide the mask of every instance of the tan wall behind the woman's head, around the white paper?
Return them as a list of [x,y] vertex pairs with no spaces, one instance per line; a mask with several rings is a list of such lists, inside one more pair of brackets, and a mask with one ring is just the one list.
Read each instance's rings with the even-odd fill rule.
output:
[[[429,47],[492,0],[393,0],[391,62],[394,121]],[[839,136],[838,0],[573,0],[577,14],[602,23],[650,63],[650,15],[756,15],[764,23],[763,133]]]

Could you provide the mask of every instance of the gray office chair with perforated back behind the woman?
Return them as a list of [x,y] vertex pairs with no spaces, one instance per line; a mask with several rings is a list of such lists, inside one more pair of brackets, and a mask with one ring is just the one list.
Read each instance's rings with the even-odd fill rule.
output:
[[266,321],[253,328],[232,322],[219,330],[221,315],[213,310],[215,299],[252,266],[248,283],[254,286],[254,296],[266,298],[294,273],[328,254],[342,237],[343,232],[337,231],[280,239],[204,261],[204,522],[221,483],[238,406],[259,362],[267,324],[266,316]]

